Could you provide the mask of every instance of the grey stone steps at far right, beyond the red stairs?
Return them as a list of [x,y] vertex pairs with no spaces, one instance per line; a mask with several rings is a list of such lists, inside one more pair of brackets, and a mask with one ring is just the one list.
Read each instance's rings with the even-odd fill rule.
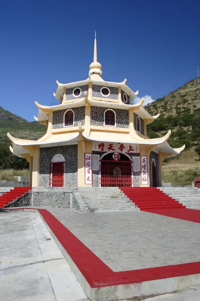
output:
[[200,210],[200,189],[196,187],[161,187],[159,189],[186,208]]

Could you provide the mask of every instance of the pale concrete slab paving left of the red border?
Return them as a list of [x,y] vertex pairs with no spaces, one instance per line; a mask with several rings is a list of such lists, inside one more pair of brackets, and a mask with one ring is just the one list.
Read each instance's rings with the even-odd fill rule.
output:
[[36,211],[0,213],[0,301],[86,301]]

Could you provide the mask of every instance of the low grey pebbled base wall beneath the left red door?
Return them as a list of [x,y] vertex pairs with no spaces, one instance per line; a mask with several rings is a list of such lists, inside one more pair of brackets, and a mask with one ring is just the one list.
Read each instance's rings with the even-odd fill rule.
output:
[[33,206],[69,208],[69,192],[32,192]]

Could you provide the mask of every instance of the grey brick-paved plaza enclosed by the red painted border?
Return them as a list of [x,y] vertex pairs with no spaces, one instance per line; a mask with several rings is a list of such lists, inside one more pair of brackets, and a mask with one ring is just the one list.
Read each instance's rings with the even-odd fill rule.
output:
[[200,261],[198,223],[142,211],[48,210],[113,271]]

